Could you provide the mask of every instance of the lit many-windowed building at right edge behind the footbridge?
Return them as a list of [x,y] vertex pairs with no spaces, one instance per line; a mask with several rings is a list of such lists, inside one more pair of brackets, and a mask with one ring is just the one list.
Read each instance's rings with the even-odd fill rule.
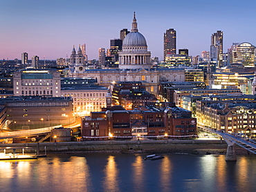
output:
[[256,136],[256,104],[253,102],[196,102],[196,117],[201,124],[227,133]]

